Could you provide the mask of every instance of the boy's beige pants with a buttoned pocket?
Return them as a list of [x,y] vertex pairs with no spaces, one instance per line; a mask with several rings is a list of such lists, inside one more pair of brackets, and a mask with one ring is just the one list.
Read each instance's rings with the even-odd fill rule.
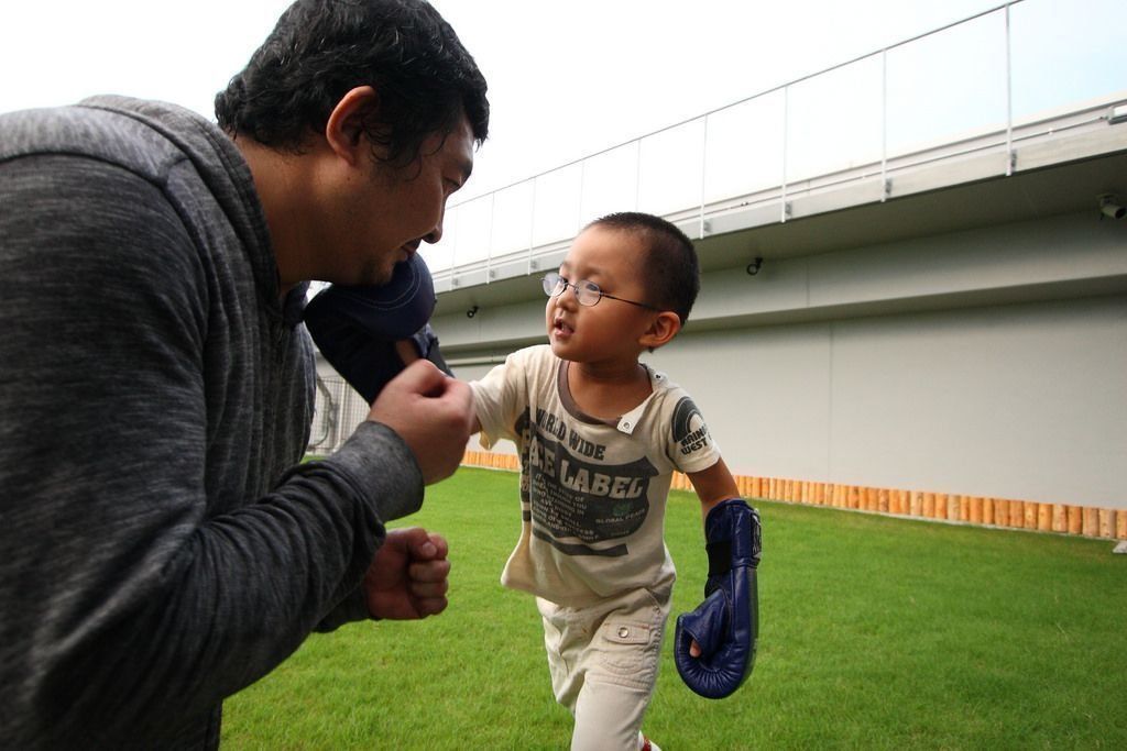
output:
[[575,716],[573,751],[638,748],[657,683],[671,591],[640,589],[588,608],[536,598],[552,690]]

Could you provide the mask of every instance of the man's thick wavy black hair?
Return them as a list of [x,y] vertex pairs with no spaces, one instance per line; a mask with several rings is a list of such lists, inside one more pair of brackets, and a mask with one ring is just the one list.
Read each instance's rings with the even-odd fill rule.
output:
[[389,163],[412,163],[423,142],[453,132],[462,113],[477,143],[488,135],[485,77],[424,0],[298,0],[216,95],[215,117],[232,135],[301,153],[360,86],[379,97],[364,126]]

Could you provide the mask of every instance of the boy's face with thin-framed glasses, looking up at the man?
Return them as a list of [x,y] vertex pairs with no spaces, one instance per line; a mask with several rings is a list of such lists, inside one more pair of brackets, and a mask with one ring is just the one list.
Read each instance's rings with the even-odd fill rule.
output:
[[575,363],[630,366],[646,349],[640,338],[657,313],[621,299],[602,297],[580,305],[571,284],[593,281],[615,297],[649,304],[642,283],[645,248],[632,233],[593,226],[585,230],[560,263],[568,287],[548,298],[548,341],[557,357]]

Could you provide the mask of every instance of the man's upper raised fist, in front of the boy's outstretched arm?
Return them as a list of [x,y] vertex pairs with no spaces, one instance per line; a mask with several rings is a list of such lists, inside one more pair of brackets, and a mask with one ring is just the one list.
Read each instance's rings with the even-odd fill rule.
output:
[[473,394],[429,360],[416,360],[392,378],[367,419],[382,422],[407,441],[427,485],[454,474],[473,424]]

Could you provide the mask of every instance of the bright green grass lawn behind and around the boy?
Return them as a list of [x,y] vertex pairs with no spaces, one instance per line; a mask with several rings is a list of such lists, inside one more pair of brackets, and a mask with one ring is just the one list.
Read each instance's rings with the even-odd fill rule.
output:
[[[450,540],[446,613],[312,636],[228,700],[223,748],[568,748],[535,605],[498,583],[517,503],[511,473],[428,489],[405,521]],[[1127,748],[1127,556],[1108,540],[755,504],[755,672],[702,699],[667,638],[645,725],[664,751]],[[694,495],[666,527],[675,617],[707,570]]]

